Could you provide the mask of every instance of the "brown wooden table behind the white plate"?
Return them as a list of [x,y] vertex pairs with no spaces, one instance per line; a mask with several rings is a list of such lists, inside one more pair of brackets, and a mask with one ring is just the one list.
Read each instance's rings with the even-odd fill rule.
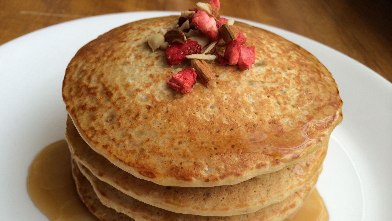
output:
[[[125,11],[181,11],[199,1],[0,0],[0,44],[76,18]],[[221,0],[220,13],[309,37],[392,81],[390,0]]]

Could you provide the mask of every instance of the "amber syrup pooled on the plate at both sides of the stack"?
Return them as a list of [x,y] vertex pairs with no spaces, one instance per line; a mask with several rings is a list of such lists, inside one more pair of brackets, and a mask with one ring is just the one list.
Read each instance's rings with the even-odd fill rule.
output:
[[[51,221],[98,221],[78,197],[71,172],[67,142],[48,145],[34,158],[27,177],[27,191],[34,204]],[[327,221],[324,202],[314,189],[301,208],[285,221]]]

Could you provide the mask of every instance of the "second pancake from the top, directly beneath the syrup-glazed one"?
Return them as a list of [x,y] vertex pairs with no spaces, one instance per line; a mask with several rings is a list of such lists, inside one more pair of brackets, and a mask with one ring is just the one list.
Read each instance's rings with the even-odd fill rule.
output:
[[66,139],[80,168],[143,203],[176,213],[228,216],[255,212],[303,188],[323,163],[327,146],[298,164],[232,186],[166,187],[138,179],[95,153],[67,120]]

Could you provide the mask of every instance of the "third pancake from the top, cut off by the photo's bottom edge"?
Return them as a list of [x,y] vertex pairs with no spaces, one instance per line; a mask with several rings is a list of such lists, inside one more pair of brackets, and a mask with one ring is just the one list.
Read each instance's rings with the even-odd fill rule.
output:
[[[75,164],[76,162],[73,161]],[[109,184],[100,181],[86,168],[79,168],[80,172],[90,181],[94,192],[101,203],[117,212],[123,213],[140,221],[281,221],[296,212],[303,201],[312,192],[318,175],[308,182],[304,188],[290,195],[284,201],[262,208],[254,213],[233,216],[200,216],[177,214],[138,201]]]

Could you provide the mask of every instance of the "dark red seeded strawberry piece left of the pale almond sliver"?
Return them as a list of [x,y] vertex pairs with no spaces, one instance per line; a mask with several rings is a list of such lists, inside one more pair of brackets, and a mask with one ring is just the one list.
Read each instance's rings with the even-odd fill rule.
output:
[[186,55],[198,54],[200,53],[201,48],[201,45],[192,39],[188,39],[185,44],[171,44],[166,49],[167,63],[169,65],[181,64],[181,62],[185,61]]

